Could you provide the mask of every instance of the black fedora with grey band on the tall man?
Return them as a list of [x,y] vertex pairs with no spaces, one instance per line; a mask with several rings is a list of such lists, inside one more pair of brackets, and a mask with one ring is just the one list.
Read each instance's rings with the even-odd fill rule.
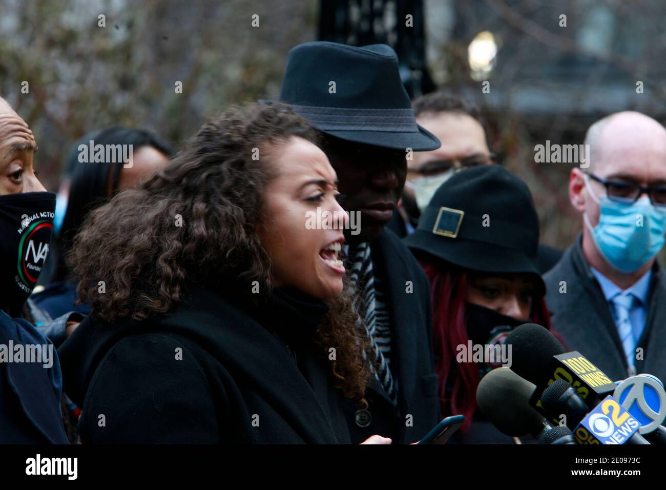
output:
[[314,41],[287,58],[280,102],[320,131],[392,149],[434,150],[440,141],[416,124],[398,57],[390,46]]

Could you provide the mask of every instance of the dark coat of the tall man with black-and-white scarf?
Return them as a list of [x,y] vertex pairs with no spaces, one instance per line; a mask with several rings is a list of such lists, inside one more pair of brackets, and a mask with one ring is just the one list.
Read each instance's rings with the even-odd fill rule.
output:
[[370,251],[390,317],[390,369],[398,382],[398,405],[394,407],[379,381],[372,377],[366,391],[370,424],[361,427],[357,421],[365,425],[368,417],[359,420],[356,407],[346,403],[348,426],[352,443],[374,434],[390,437],[394,443],[413,443],[440,420],[430,285],[410,250],[390,229],[385,228],[370,243]]

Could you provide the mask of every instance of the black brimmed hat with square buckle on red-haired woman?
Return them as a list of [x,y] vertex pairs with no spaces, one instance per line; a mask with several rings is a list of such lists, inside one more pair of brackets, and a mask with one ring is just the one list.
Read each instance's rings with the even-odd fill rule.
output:
[[539,273],[539,219],[527,185],[500,165],[456,172],[426,207],[418,228],[404,239],[423,251],[472,271]]

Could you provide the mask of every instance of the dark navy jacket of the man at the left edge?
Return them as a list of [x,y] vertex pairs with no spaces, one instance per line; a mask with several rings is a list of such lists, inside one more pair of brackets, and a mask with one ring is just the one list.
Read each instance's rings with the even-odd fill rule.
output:
[[[51,345],[33,325],[0,311],[0,345]],[[67,444],[60,409],[62,377],[53,348],[53,366],[0,362],[0,444]],[[10,353],[11,354],[11,353]]]

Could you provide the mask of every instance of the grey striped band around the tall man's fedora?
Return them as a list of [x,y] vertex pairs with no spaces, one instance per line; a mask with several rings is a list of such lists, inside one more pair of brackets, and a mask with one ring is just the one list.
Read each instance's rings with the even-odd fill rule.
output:
[[314,105],[291,107],[322,131],[419,132],[412,109],[350,109]]

